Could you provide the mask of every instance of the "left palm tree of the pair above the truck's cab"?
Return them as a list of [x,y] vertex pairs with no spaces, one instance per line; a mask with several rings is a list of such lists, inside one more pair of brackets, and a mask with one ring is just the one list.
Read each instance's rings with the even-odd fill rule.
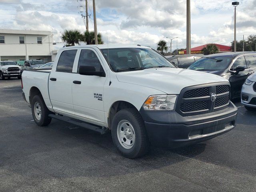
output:
[[79,44],[82,35],[79,30],[65,30],[64,33],[61,34],[62,41],[66,42],[67,45],[74,46],[75,44]]

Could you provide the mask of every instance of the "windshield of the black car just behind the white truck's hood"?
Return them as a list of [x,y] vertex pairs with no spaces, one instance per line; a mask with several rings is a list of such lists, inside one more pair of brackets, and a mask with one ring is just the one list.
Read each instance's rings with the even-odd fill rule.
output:
[[228,68],[232,57],[229,56],[215,56],[203,57],[194,62],[188,69],[198,71],[220,71]]

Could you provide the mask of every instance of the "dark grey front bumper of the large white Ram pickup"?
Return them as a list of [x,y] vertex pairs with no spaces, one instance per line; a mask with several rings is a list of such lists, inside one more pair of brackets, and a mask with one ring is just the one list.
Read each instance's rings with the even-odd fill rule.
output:
[[148,138],[154,146],[175,148],[212,139],[235,127],[237,108],[230,102],[223,110],[194,116],[175,111],[140,110]]

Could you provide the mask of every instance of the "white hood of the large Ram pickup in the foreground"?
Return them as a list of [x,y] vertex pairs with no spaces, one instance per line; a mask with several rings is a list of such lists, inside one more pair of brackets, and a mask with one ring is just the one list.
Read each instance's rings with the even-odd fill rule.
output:
[[154,88],[166,94],[180,94],[188,86],[214,82],[228,82],[214,74],[181,68],[149,68],[139,71],[119,72],[120,82]]

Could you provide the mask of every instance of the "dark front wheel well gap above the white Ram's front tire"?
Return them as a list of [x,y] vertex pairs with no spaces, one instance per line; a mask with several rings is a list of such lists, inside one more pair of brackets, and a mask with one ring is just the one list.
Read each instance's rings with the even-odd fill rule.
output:
[[121,109],[127,109],[127,108],[136,109],[136,107],[133,104],[126,102],[126,101],[116,101],[116,102],[114,102],[114,104],[112,104],[110,111],[109,111],[109,116],[108,116],[108,128],[109,129],[111,129],[111,123],[112,123],[112,120],[113,120],[115,114],[118,111],[120,111]]

